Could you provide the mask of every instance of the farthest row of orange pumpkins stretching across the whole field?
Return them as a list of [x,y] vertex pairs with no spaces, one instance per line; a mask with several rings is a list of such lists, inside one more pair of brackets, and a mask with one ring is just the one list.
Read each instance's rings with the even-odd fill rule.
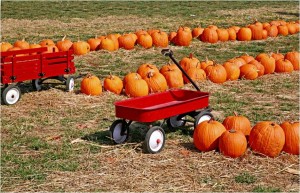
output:
[[163,32],[158,29],[138,30],[134,33],[127,34],[109,34],[90,38],[87,41],[72,42],[66,39],[66,36],[54,42],[51,39],[44,39],[39,44],[23,40],[17,40],[14,44],[9,42],[1,43],[1,52],[30,49],[38,47],[48,47],[47,52],[74,50],[75,55],[83,55],[95,50],[115,51],[119,48],[126,50],[134,49],[136,44],[148,49],[152,46],[168,47],[169,43],[177,46],[189,46],[193,38],[198,38],[203,42],[216,43],[218,41],[250,41],[261,40],[267,37],[276,37],[278,35],[289,35],[299,32],[299,21],[286,22],[283,20],[274,20],[271,22],[258,22],[245,27],[232,26],[229,28],[218,28],[216,25],[209,25],[206,28],[196,27],[179,27],[178,30],[170,33]]

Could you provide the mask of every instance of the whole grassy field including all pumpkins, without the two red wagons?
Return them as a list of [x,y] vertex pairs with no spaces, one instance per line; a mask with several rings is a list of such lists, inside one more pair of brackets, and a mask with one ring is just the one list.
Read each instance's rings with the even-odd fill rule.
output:
[[[1,190],[299,192],[299,21],[297,1],[1,1],[1,52],[72,49],[76,67],[72,92],[28,80],[1,104]],[[214,119],[114,144],[116,101],[195,90],[163,48]]]

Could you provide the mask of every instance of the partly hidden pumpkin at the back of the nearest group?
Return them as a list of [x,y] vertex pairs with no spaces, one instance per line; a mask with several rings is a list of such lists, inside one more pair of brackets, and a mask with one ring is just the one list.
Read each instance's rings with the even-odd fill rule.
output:
[[251,123],[249,119],[243,115],[238,115],[236,112],[233,116],[226,117],[222,124],[227,130],[234,129],[241,131],[244,135],[250,135]]

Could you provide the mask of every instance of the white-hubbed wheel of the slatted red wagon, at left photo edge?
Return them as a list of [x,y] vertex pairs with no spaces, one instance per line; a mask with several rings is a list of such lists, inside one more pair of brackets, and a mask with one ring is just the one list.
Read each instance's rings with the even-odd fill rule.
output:
[[3,90],[1,97],[4,104],[13,105],[20,99],[21,90],[18,86],[11,84]]

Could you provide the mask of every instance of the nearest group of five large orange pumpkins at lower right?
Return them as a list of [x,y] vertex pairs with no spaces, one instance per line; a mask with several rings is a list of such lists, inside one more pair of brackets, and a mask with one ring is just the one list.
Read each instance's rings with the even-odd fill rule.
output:
[[285,121],[276,124],[272,121],[258,122],[251,127],[247,117],[228,116],[223,123],[209,120],[200,123],[194,130],[193,143],[203,152],[219,149],[225,156],[237,158],[249,147],[257,153],[276,157],[281,151],[299,155],[299,122]]

